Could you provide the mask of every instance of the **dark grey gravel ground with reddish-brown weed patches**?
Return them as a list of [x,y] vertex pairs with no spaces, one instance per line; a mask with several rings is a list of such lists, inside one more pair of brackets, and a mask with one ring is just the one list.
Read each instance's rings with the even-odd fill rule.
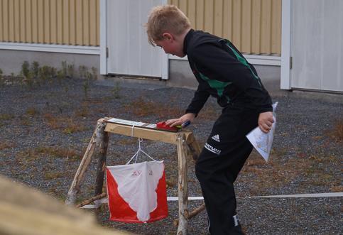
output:
[[[31,89],[19,84],[0,88],[0,173],[64,200],[97,119],[156,123],[183,114],[193,91],[149,86],[92,85],[87,95],[81,80],[43,84]],[[247,234],[342,234],[342,198],[248,198],[258,195],[343,192],[343,102],[293,93],[274,94],[279,102],[278,124],[271,162],[254,151],[236,180],[241,224]],[[342,96],[341,96],[342,97]],[[343,99],[343,98],[342,98]],[[209,99],[189,129],[204,144],[220,114]],[[340,137],[339,137],[340,135]],[[110,136],[108,165],[126,163],[136,152],[137,140]],[[143,149],[165,160],[168,196],[177,195],[175,146],[144,141]],[[97,162],[87,171],[80,200],[92,196]],[[189,163],[189,195],[201,191]],[[201,201],[191,201],[195,208]],[[175,234],[177,202],[168,202],[170,216],[151,224],[109,222],[107,207],[99,221],[107,227],[137,234]],[[189,234],[205,234],[206,213],[190,220]]]

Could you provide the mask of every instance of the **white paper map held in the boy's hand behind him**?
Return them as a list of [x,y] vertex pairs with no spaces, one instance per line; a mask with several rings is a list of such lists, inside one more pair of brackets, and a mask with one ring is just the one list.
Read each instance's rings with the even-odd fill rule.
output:
[[273,144],[273,136],[276,126],[276,106],[278,106],[278,102],[273,104],[273,118],[274,123],[271,126],[271,131],[268,133],[263,133],[259,127],[250,131],[246,138],[249,139],[250,143],[256,148],[256,151],[261,154],[261,156],[268,162],[269,153],[271,153],[271,146]]

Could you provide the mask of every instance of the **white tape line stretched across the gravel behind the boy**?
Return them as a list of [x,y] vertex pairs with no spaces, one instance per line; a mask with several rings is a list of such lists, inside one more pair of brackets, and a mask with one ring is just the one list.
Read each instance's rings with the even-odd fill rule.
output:
[[[269,196],[254,196],[254,197],[237,197],[237,198],[300,198],[300,197],[343,197],[343,192],[327,192],[327,193],[311,193],[302,195],[269,195]],[[178,197],[167,197],[167,201],[178,201]],[[204,197],[188,197],[188,200],[204,200]],[[100,204],[107,203],[107,198],[94,201],[96,204],[87,204],[81,208],[91,209],[98,208]]]

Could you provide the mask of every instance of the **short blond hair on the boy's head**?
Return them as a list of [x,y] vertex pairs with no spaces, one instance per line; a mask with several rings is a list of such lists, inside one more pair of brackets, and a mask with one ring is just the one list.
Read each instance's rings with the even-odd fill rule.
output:
[[165,32],[181,35],[187,28],[190,28],[190,20],[173,5],[155,6],[146,23],[146,33],[151,45],[155,45],[158,40],[163,40]]

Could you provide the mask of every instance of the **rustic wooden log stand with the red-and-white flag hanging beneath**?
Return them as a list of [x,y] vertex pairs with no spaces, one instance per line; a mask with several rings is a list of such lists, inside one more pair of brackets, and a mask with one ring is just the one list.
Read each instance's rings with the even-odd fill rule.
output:
[[[77,193],[80,192],[80,186],[84,177],[85,171],[89,166],[94,155],[95,147],[97,147],[97,180],[95,185],[94,196],[102,195],[104,184],[104,171],[106,168],[107,146],[109,143],[109,133],[121,134],[124,136],[132,136],[137,138],[145,138],[153,141],[161,141],[165,143],[173,143],[178,148],[178,235],[187,234],[187,219],[188,212],[188,188],[187,188],[187,155],[192,158],[197,158],[200,154],[200,148],[195,141],[191,131],[160,131],[156,129],[146,129],[142,127],[132,127],[124,124],[110,123],[111,118],[99,119],[97,128],[95,129],[89,145],[81,160],[80,166],[77,169],[70,190],[67,194],[65,204],[75,204]],[[195,209],[197,211],[197,209]]]

